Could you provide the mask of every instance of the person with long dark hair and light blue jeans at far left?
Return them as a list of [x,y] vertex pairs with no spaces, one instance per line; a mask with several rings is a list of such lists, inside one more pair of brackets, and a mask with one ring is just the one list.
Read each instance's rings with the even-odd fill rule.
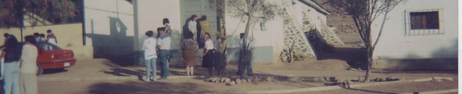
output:
[[[35,38],[32,39],[35,40]],[[10,36],[5,43],[0,58],[4,58],[3,74],[3,94],[19,94],[19,59],[21,58],[21,48],[18,39]],[[36,58],[35,58],[36,59]]]

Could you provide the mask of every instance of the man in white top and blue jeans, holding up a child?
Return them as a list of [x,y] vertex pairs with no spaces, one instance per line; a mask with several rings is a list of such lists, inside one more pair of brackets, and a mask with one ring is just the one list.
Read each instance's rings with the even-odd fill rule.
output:
[[157,46],[159,48],[159,58],[161,62],[160,73],[161,78],[159,80],[167,79],[167,76],[170,75],[169,71],[169,62],[167,61],[167,56],[170,50],[171,39],[168,34],[165,33],[165,27],[157,28],[159,31],[159,38],[157,39]]

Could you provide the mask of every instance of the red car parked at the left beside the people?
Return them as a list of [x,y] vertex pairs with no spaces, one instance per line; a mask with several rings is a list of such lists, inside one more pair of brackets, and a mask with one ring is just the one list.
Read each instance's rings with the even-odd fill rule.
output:
[[38,42],[37,46],[39,48],[37,75],[42,74],[45,69],[64,69],[74,66],[77,61],[72,50],[61,49],[48,42]]

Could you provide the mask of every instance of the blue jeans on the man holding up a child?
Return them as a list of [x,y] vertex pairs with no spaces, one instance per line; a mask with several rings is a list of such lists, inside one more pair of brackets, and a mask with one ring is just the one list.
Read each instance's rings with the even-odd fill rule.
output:
[[169,61],[167,60],[167,56],[169,54],[169,50],[167,49],[160,49],[159,50],[159,59],[161,63],[160,73],[162,77],[167,77],[170,75],[169,71]]

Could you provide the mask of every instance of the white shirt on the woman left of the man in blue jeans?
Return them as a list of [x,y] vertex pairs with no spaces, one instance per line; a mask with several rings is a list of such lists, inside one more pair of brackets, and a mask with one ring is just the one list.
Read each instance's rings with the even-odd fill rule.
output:
[[156,44],[157,44],[156,39],[154,39],[152,37],[144,39],[144,42],[143,42],[144,60],[157,58]]

